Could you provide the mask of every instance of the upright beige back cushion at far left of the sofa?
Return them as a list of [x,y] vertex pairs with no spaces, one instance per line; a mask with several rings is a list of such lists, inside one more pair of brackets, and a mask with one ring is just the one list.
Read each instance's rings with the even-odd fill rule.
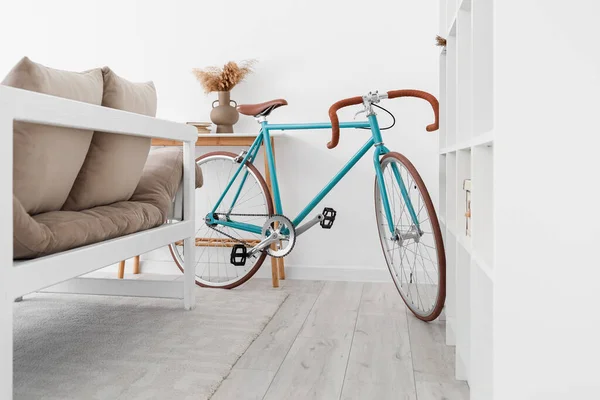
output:
[[[102,71],[68,72],[23,58],[3,85],[100,105]],[[88,152],[92,131],[15,122],[13,193],[31,215],[60,210]]]

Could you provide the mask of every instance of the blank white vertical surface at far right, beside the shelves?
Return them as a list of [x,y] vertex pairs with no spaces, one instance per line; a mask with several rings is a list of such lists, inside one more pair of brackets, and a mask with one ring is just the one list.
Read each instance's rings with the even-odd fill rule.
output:
[[600,4],[495,2],[495,399],[600,398]]

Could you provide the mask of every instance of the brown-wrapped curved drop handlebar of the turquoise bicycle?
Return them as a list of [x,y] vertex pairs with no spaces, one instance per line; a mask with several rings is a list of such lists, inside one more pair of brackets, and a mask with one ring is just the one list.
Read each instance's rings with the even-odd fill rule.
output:
[[[423,92],[421,90],[414,89],[403,89],[403,90],[390,90],[387,92],[388,99],[395,99],[397,97],[418,97],[423,100],[427,100],[429,104],[431,104],[431,108],[433,108],[433,114],[435,116],[435,121],[433,124],[427,125],[425,130],[427,132],[437,131],[440,127],[440,104],[434,95]],[[327,143],[327,148],[333,149],[338,145],[340,141],[340,121],[337,116],[337,111],[341,108],[353,106],[356,104],[362,104],[363,98],[360,96],[350,97],[348,99],[340,100],[334,103],[329,108],[329,119],[331,120],[331,141]]]

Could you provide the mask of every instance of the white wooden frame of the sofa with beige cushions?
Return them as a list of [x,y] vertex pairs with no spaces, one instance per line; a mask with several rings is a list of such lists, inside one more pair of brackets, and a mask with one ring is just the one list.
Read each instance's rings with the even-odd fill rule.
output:
[[[28,261],[13,261],[13,121],[173,139],[183,142],[183,220]],[[194,307],[194,127],[94,106],[0,85],[0,399],[13,395],[14,300],[53,285],[56,290],[125,296],[182,298],[185,309]],[[43,167],[43,166],[40,166]],[[92,280],[81,275],[129,257],[184,240],[183,281],[144,282]]]

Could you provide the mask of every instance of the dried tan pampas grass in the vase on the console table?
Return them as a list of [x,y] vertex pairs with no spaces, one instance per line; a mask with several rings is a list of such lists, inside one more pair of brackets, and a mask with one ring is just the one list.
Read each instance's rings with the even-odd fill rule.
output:
[[194,68],[193,74],[206,93],[228,92],[252,72],[256,60],[242,61],[239,65],[233,61],[220,67]]

